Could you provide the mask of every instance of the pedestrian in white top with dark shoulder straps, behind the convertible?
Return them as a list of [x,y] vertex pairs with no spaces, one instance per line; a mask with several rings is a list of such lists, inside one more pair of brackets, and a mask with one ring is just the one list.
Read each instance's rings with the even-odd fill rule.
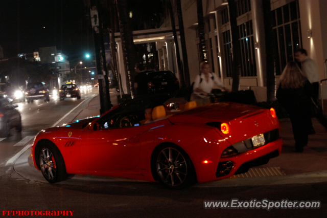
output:
[[196,101],[197,105],[202,106],[210,103],[210,96],[214,83],[222,91],[226,91],[224,85],[219,81],[215,73],[210,73],[209,64],[206,61],[200,63],[200,75],[197,75],[193,85],[191,101]]

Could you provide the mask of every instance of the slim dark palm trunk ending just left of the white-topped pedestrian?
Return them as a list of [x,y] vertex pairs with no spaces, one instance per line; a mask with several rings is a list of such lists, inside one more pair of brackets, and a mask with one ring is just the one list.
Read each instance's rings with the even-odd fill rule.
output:
[[185,86],[186,88],[189,88],[191,86],[191,81],[190,81],[191,79],[190,79],[190,71],[189,71],[188,52],[186,51],[183,14],[182,14],[182,7],[181,7],[180,0],[176,0],[176,6],[177,6],[180,43],[181,43],[182,55],[183,55],[183,70],[184,70]]

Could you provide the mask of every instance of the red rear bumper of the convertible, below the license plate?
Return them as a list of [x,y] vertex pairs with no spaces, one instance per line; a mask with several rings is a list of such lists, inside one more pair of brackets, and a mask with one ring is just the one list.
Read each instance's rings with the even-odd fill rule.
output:
[[[278,138],[273,142],[270,142],[256,149],[249,150],[243,154],[227,158],[220,158],[219,162],[213,162],[209,164],[200,163],[200,165],[196,167],[198,182],[204,183],[225,179],[234,175],[239,169],[240,170],[238,173],[242,173],[242,170],[244,170],[246,167],[260,165],[260,161],[262,161],[262,159],[269,161],[269,158],[276,157],[281,154],[282,142],[283,140]],[[217,177],[218,166],[221,162],[232,162],[232,167],[228,175]],[[242,168],[240,168],[241,166]]]

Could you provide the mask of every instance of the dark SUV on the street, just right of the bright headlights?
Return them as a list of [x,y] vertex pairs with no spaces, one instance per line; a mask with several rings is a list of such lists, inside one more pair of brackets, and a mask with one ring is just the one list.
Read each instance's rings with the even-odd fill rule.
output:
[[26,86],[25,98],[27,103],[32,103],[33,100],[44,99],[50,101],[49,91],[45,88],[42,82],[28,83]]

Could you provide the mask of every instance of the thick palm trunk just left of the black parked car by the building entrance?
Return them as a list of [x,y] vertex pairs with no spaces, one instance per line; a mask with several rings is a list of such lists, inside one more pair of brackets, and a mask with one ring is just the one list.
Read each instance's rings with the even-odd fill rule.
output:
[[126,0],[116,0],[115,3],[117,6],[119,29],[122,40],[126,83],[129,85],[127,94],[131,94],[131,97],[134,98],[132,84],[135,76],[134,66],[137,61],[135,46],[133,42],[133,33],[128,23],[127,2]]

